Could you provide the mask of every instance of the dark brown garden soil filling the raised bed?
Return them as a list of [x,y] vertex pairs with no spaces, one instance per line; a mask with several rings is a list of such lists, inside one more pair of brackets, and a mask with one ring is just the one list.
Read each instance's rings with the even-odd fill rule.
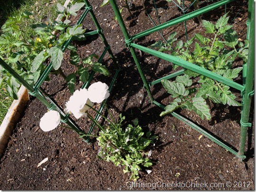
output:
[[[131,35],[153,27],[152,20],[158,24],[153,1],[132,1],[133,7],[130,16],[127,9],[122,15]],[[206,1],[199,6],[206,6]],[[13,130],[4,155],[0,159],[0,189],[1,190],[254,190],[254,123],[248,129],[245,161],[240,162],[236,156],[218,146],[207,137],[190,128],[185,123],[171,115],[160,117],[161,109],[152,105],[143,88],[142,79],[134,64],[129,49],[125,46],[124,37],[118,22],[114,20],[114,12],[110,5],[100,7],[100,0],[91,0],[93,10],[111,49],[116,56],[117,63],[122,70],[114,84],[111,96],[107,101],[111,112],[116,118],[122,113],[125,124],[132,123],[138,118],[144,131],[151,130],[158,136],[155,144],[147,148],[152,150],[152,170],[150,174],[143,168],[140,179],[130,180],[130,174],[123,174],[122,166],[115,166],[97,157],[99,146],[95,139],[87,144],[78,138],[71,129],[58,126],[50,132],[43,132],[39,128],[40,118],[47,112],[47,108],[34,97],[30,101],[19,123]],[[124,1],[118,1],[124,6]],[[165,0],[157,1],[160,21],[164,22],[182,14],[173,4]],[[227,5],[230,19],[239,35],[240,40],[246,39],[247,33],[247,2],[237,0]],[[145,10],[151,15],[147,16]],[[225,6],[210,11],[202,16],[211,22],[224,14]],[[75,23],[81,15],[71,18]],[[233,21],[232,19],[235,18]],[[92,19],[87,16],[83,26],[95,30]],[[188,37],[195,33],[204,34],[204,29],[194,18],[187,21]],[[178,39],[186,40],[184,23],[162,30],[165,38],[176,31]],[[161,40],[160,33],[156,32],[142,37],[135,42],[150,46]],[[99,36],[88,38],[83,42],[75,42],[82,57],[90,54],[101,55],[104,44]],[[171,73],[172,64],[154,56],[137,51],[146,78],[153,81],[163,75]],[[69,64],[69,52],[66,51],[62,69],[67,75],[76,70]],[[114,64],[109,55],[104,57],[103,64],[107,65],[114,74]],[[241,66],[237,60],[234,66]],[[66,82],[61,76],[51,75],[51,80],[43,84],[43,89],[65,108],[70,97]],[[102,81],[110,84],[111,77],[96,75],[93,82]],[[242,83],[241,76],[236,82]],[[77,78],[76,88],[82,83]],[[241,101],[239,92],[232,90],[237,101]],[[157,101],[168,104],[170,96],[161,84],[152,86],[152,94]],[[254,101],[252,101],[251,121],[254,122]],[[98,107],[98,106],[96,106]],[[239,148],[241,108],[228,105],[210,103],[211,120],[202,120],[195,113],[188,110],[178,110],[181,115],[190,118],[200,127],[204,127],[225,143]],[[73,117],[72,117],[73,118]],[[85,117],[74,121],[85,131],[88,131],[91,122]],[[93,134],[97,134],[95,128]],[[38,167],[43,159],[48,161]],[[229,185],[230,184],[230,185]]]

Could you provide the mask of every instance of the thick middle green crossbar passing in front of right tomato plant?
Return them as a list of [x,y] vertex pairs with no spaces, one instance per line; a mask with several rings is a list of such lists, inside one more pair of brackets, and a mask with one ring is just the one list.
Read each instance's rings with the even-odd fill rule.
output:
[[222,77],[221,75],[219,74],[216,74],[216,73],[213,73],[203,67],[200,67],[196,64],[192,64],[188,61],[185,61],[181,58],[178,58],[178,57],[175,57],[175,56],[172,56],[172,55],[168,55],[168,54],[165,54],[165,53],[161,53],[160,51],[156,51],[156,50],[153,50],[153,49],[150,49],[150,48],[147,48],[147,47],[144,47],[144,46],[140,46],[140,45],[137,45],[135,43],[131,43],[130,46],[134,47],[134,48],[137,48],[137,49],[140,49],[146,53],[149,53],[151,55],[155,55],[161,59],[164,59],[166,61],[169,61],[173,64],[177,64],[181,67],[184,67],[186,69],[189,69],[193,72],[196,72],[196,73],[199,73],[199,74],[202,74],[206,77],[209,77],[211,79],[214,79],[218,82],[221,82],[221,83],[224,83],[230,87],[233,87],[239,91],[243,91],[245,89],[245,87],[243,85],[240,85],[238,84],[237,82],[233,82],[229,79],[226,79],[224,77]]

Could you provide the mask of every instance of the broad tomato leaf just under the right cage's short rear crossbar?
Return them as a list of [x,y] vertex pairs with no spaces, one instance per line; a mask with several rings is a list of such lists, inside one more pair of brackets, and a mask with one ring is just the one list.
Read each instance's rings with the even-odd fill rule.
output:
[[180,95],[186,96],[189,94],[189,91],[185,89],[183,83],[170,82],[166,79],[162,80],[161,82],[166,91],[171,94],[171,97],[179,97]]

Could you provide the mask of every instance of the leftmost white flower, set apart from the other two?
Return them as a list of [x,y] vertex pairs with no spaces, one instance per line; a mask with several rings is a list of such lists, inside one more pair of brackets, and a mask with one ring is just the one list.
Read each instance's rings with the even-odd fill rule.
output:
[[50,110],[40,120],[40,128],[43,131],[51,131],[60,123],[60,115],[56,110]]

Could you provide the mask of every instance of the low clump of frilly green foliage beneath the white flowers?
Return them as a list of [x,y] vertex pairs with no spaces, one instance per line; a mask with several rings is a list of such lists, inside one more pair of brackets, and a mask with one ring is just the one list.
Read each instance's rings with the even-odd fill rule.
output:
[[113,162],[114,165],[123,165],[124,173],[131,172],[130,179],[137,180],[139,171],[143,167],[152,166],[151,160],[147,157],[148,153],[144,150],[156,136],[152,136],[151,132],[144,132],[138,125],[138,119],[133,121],[133,125],[129,124],[123,128],[122,122],[125,119],[122,114],[118,122],[113,122],[105,129],[99,132],[98,145],[101,146],[98,153],[99,157],[105,161]]

